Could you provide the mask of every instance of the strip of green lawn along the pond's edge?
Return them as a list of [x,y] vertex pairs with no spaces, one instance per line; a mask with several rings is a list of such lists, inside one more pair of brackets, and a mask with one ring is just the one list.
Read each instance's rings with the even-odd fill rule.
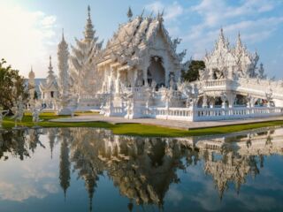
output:
[[[83,114],[83,113],[82,113]],[[247,125],[228,125],[228,126],[218,126],[203,129],[194,130],[177,130],[171,128],[165,128],[156,125],[141,125],[141,124],[117,124],[112,125],[106,122],[81,122],[81,123],[54,123],[49,122],[50,119],[55,119],[58,117],[68,117],[68,116],[57,116],[53,113],[42,113],[40,116],[42,122],[39,123],[42,127],[99,127],[110,129],[114,134],[124,134],[124,135],[137,135],[144,137],[183,137],[183,136],[197,136],[197,135],[211,135],[211,134],[223,134],[223,133],[234,133],[244,130],[251,130],[261,127],[268,126],[283,126],[282,121],[269,121],[256,124]],[[4,118],[4,128],[11,129],[14,126],[13,120],[9,117]],[[27,127],[34,126],[32,122],[32,116],[27,113],[23,118],[23,125]]]

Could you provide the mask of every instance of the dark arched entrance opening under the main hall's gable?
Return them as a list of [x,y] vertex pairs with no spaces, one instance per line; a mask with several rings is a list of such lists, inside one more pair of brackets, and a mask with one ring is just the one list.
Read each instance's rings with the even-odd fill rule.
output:
[[152,81],[157,83],[157,87],[165,86],[165,70],[162,65],[161,57],[151,57],[148,68],[148,83],[151,85]]

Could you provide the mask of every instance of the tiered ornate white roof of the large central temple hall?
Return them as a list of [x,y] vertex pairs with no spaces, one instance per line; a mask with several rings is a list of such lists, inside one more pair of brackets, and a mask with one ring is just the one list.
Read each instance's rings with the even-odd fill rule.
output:
[[129,19],[126,24],[119,26],[116,33],[108,41],[106,49],[103,50],[102,57],[97,64],[103,63],[108,59],[118,61],[120,64],[128,64],[134,66],[138,59],[142,57],[142,53],[146,46],[150,46],[155,42],[155,36],[160,30],[164,36],[165,42],[173,59],[180,63],[185,56],[185,52],[176,53],[179,39],[172,40],[167,30],[164,28],[163,16],[158,14],[157,17],[151,16],[143,18],[142,15],[134,19]]

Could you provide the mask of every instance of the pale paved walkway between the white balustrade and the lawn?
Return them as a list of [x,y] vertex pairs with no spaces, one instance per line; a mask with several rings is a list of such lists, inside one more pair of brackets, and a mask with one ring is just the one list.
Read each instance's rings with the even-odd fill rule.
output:
[[187,122],[187,121],[175,121],[175,120],[164,120],[154,118],[137,118],[137,119],[126,119],[123,117],[103,117],[101,115],[88,115],[88,116],[76,116],[76,117],[65,117],[52,119],[52,122],[108,122],[111,124],[119,123],[139,123],[142,125],[159,125],[174,129],[196,129],[213,126],[224,126],[224,125],[241,125],[251,124],[263,121],[283,120],[283,116],[279,117],[262,117],[262,118],[249,118],[249,119],[236,119],[236,120],[221,120],[221,121],[202,121],[202,122]]

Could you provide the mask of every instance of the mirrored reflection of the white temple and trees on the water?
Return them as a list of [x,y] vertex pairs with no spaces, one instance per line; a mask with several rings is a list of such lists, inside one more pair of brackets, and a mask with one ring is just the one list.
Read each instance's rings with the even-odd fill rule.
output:
[[265,155],[283,154],[282,139],[281,128],[192,138],[120,136],[93,128],[31,129],[0,133],[0,158],[25,160],[37,148],[50,148],[52,158],[54,147],[60,146],[58,181],[65,198],[74,171],[84,181],[90,211],[103,176],[128,199],[129,210],[134,204],[163,208],[169,187],[180,183],[178,170],[198,163],[213,178],[220,200],[233,187],[241,193],[246,179],[260,174]]

